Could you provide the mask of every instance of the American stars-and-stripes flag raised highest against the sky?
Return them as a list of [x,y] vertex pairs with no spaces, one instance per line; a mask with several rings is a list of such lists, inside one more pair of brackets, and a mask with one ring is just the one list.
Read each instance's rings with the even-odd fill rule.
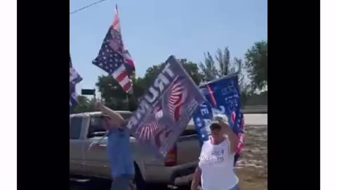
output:
[[135,65],[128,50],[124,49],[117,6],[114,22],[105,35],[105,39],[100,47],[98,56],[93,61],[93,65],[112,75],[124,91],[131,91],[131,77],[134,75]]

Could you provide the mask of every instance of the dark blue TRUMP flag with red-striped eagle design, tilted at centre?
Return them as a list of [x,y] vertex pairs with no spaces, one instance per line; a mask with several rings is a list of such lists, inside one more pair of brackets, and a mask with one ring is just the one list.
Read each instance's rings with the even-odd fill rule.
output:
[[170,56],[126,127],[140,144],[165,157],[204,101],[182,65]]

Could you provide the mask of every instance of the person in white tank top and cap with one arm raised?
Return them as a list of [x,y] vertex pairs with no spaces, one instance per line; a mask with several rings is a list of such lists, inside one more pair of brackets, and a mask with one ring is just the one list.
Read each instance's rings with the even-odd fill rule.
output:
[[194,172],[191,190],[197,190],[201,182],[202,190],[237,190],[239,179],[234,173],[234,156],[237,135],[228,123],[217,118],[210,126],[211,138],[204,142],[199,157],[199,165]]

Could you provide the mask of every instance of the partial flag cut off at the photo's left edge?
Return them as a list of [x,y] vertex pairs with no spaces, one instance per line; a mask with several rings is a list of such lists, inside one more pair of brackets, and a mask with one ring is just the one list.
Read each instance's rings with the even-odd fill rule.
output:
[[72,58],[70,57],[70,82],[69,82],[69,92],[70,92],[70,113],[72,108],[77,105],[77,94],[76,94],[76,84],[81,82],[82,77],[79,73],[72,67]]

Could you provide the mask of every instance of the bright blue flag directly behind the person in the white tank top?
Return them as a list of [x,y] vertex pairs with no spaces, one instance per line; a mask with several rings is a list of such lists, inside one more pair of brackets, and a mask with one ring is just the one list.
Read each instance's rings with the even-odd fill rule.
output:
[[[199,87],[207,101],[193,115],[200,143],[209,139],[209,125],[214,114],[224,114],[231,129],[239,137],[237,153],[242,149],[244,115],[241,112],[240,89],[237,75],[213,80]],[[207,106],[206,106],[207,105]]]

